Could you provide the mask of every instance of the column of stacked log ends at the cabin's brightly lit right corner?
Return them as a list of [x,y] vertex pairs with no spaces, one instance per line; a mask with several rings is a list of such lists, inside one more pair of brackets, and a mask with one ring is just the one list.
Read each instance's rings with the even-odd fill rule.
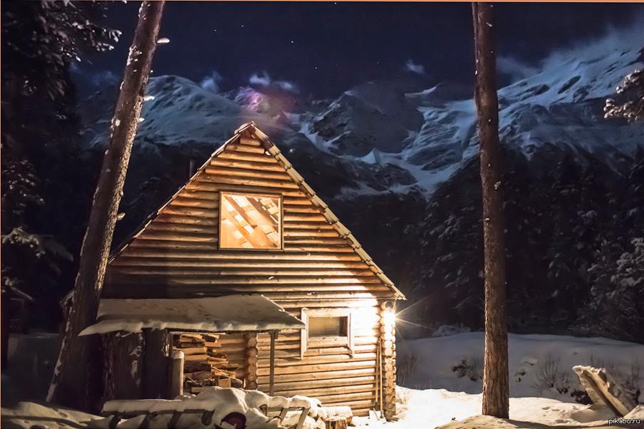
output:
[[383,356],[383,408],[385,418],[390,420],[396,413],[396,337],[395,324],[385,317],[387,311],[395,311],[393,301],[385,301],[380,306],[380,338]]

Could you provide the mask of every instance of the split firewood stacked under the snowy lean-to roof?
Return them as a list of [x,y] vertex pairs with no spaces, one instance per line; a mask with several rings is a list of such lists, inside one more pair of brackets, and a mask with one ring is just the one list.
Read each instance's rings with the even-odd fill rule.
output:
[[175,348],[185,354],[183,373],[186,393],[199,393],[205,387],[242,388],[244,381],[237,378],[239,366],[230,363],[224,353],[219,353],[219,335],[175,335]]

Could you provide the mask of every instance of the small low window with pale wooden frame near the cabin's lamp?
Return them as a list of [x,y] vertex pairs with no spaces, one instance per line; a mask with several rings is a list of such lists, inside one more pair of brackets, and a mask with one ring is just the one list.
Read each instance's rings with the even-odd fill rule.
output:
[[301,331],[300,357],[309,348],[346,346],[353,355],[353,330],[350,309],[302,309],[301,319],[306,328]]

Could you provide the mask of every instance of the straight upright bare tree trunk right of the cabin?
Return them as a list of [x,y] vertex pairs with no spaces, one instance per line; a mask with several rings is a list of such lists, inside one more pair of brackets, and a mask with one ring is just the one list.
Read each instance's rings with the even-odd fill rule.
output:
[[505,239],[502,212],[499,101],[492,4],[473,3],[479,153],[483,186],[485,258],[485,357],[483,414],[508,417],[508,338]]

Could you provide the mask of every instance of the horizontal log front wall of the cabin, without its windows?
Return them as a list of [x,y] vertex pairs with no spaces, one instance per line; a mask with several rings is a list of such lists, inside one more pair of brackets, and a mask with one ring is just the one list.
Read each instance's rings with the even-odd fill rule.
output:
[[[220,250],[222,191],[281,196],[284,248]],[[350,405],[358,415],[374,408],[380,302],[400,295],[279,150],[253,129],[224,145],[118,252],[108,265],[103,296],[226,293],[264,294],[297,317],[303,308],[351,309],[353,356],[346,343],[326,343],[309,347],[301,358],[300,332],[279,334],[275,394]],[[221,338],[230,341],[222,346],[229,360],[243,360],[240,378],[249,373],[247,385],[267,392],[269,336]]]

